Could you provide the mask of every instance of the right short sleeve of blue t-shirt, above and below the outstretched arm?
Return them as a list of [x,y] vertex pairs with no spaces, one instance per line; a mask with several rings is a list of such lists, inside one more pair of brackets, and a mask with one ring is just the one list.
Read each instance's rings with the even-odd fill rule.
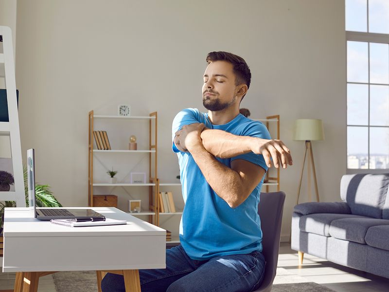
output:
[[[261,122],[250,122],[242,131],[241,136],[250,136],[261,139],[271,139],[270,133],[266,126]],[[261,166],[267,171],[267,165],[265,163],[264,156],[262,154],[255,154],[254,152],[248,152],[231,158],[231,162],[235,159],[244,159],[253,164]]]

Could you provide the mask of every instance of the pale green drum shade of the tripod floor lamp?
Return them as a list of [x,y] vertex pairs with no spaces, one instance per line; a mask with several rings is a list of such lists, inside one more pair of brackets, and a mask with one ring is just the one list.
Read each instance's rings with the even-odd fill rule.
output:
[[295,122],[293,140],[324,140],[323,122],[318,119],[298,119]]

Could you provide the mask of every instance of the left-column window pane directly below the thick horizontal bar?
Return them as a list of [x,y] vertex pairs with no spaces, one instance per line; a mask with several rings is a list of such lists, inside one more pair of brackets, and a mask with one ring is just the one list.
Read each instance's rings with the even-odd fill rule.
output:
[[347,41],[347,81],[368,83],[368,43]]

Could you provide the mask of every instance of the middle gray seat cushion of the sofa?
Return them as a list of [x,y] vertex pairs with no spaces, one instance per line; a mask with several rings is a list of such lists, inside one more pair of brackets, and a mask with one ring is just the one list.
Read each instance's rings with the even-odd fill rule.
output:
[[389,220],[373,218],[342,218],[331,222],[332,237],[366,244],[366,233],[371,226],[389,225]]

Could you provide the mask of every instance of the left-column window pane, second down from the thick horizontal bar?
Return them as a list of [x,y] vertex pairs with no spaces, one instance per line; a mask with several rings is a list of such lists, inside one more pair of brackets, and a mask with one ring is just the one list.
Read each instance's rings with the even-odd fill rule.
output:
[[368,126],[369,87],[365,84],[347,84],[347,125]]

